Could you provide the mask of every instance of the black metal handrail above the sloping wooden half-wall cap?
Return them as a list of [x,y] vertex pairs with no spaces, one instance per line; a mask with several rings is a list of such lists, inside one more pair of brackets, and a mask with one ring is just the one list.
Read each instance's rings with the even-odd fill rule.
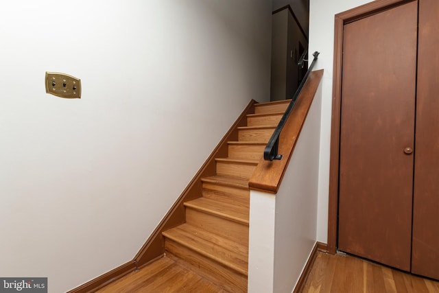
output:
[[311,65],[309,65],[308,71],[305,74],[305,77],[303,78],[302,82],[300,82],[296,93],[294,93],[292,101],[289,103],[287,110],[285,110],[285,113],[283,114],[283,116],[281,118],[281,121],[279,121],[279,124],[277,125],[276,129],[274,130],[272,137],[270,138],[267,145],[265,146],[265,150],[263,151],[263,159],[265,161],[273,161],[273,160],[282,159],[282,155],[277,153],[278,145],[279,145],[279,135],[281,135],[282,128],[285,125],[285,122],[287,121],[289,114],[291,113],[292,109],[294,108],[294,105],[296,104],[296,100],[297,100],[298,96],[300,95],[300,92],[302,91],[303,86],[305,85],[305,82],[308,79],[309,73],[311,73],[311,70],[313,69],[314,63],[316,62],[319,54],[320,53],[318,51],[314,52],[313,62],[311,62]]

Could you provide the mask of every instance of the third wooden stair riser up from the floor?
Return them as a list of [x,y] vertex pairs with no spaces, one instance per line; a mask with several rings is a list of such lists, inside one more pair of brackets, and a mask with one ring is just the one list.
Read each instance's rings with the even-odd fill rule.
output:
[[222,185],[203,183],[202,194],[204,198],[211,198],[226,203],[250,207],[250,191]]

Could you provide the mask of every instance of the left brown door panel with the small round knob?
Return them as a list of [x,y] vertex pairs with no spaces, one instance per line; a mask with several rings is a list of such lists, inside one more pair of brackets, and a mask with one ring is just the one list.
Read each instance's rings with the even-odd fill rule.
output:
[[410,270],[417,2],[344,25],[338,248]]

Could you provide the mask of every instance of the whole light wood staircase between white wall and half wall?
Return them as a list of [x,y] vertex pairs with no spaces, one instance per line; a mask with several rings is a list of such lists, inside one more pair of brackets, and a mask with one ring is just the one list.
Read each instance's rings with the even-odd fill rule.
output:
[[163,232],[169,259],[228,292],[247,292],[248,180],[289,102],[254,105],[216,174],[201,179],[202,197],[185,202],[185,224]]

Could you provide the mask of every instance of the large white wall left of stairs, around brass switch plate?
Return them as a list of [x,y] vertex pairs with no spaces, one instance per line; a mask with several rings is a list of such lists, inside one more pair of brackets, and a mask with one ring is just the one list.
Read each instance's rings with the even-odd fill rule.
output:
[[[130,261],[250,99],[270,0],[0,4],[0,276],[64,292]],[[45,93],[45,71],[82,99]]]

